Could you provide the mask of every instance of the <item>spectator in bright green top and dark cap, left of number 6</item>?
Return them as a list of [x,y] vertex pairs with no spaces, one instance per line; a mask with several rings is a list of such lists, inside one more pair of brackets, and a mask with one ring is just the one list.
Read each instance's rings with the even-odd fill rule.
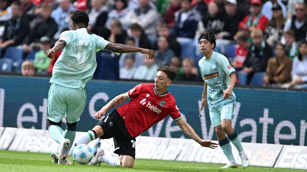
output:
[[50,49],[50,38],[41,37],[40,39],[40,51],[35,54],[34,65],[38,73],[46,74],[47,69],[49,68],[51,59],[48,58],[45,54],[47,49]]

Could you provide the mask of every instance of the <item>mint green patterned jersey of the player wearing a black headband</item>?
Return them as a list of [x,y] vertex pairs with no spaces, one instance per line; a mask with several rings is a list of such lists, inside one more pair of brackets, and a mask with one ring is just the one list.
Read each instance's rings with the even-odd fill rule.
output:
[[207,60],[206,57],[198,61],[201,76],[207,83],[207,100],[210,109],[219,109],[226,104],[235,103],[235,93],[232,92],[231,100],[223,100],[223,92],[230,84],[229,75],[235,72],[235,69],[229,64],[227,57],[214,52]]

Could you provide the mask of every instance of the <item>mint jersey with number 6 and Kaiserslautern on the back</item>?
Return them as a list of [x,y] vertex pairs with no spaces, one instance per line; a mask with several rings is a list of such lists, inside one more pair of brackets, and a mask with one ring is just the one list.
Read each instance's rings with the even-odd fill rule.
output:
[[64,31],[60,40],[66,42],[60,57],[53,66],[50,83],[69,88],[84,88],[95,72],[96,50],[104,49],[109,41],[86,28]]

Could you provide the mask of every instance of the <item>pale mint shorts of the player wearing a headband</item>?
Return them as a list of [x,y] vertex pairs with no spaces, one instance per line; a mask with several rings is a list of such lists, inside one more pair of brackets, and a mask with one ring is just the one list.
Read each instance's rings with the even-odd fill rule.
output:
[[235,104],[226,104],[219,109],[209,109],[210,120],[212,127],[221,125],[221,120],[229,119],[232,120],[235,116]]

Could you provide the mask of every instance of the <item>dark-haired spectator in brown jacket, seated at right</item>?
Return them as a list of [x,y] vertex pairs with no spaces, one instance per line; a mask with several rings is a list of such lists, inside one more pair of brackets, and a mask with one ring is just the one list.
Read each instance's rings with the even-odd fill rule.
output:
[[265,85],[280,85],[288,82],[290,81],[291,69],[292,60],[287,57],[284,45],[277,44],[275,46],[275,57],[271,57],[268,61],[263,83]]

